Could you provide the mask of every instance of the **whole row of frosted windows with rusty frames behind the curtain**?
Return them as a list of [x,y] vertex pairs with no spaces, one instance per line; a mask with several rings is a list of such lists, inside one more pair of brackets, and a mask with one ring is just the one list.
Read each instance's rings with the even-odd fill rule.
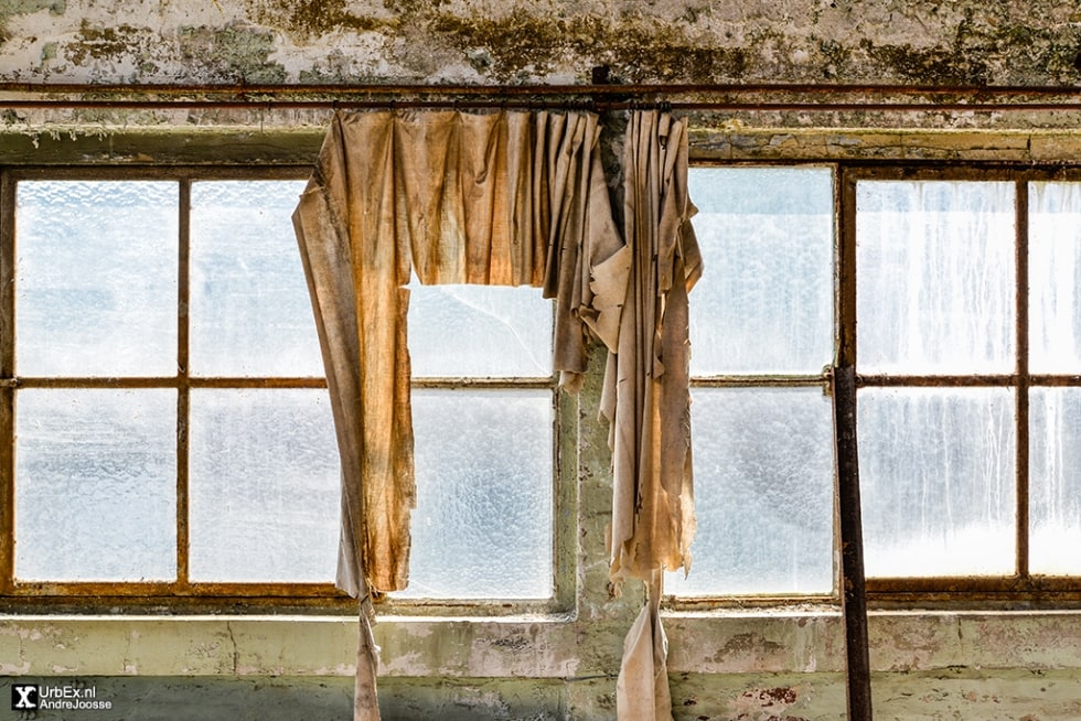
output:
[[[307,169],[4,171],[0,591],[341,607],[339,470],[289,223]],[[695,168],[687,603],[836,595],[853,349],[868,589],[1081,592],[1081,179]],[[413,289],[393,607],[566,607],[577,435],[536,290]],[[838,349],[839,348],[839,349]],[[179,601],[178,601],[179,599]],[[188,600],[188,601],[185,601]]]

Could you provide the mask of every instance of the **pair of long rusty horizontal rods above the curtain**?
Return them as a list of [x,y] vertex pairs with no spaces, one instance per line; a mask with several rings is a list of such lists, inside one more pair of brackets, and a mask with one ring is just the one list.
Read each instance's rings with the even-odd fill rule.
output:
[[[890,97],[911,99],[885,99]],[[0,108],[11,109],[589,107],[618,110],[656,104],[681,110],[728,111],[1078,111],[1081,110],[1081,88],[818,84],[339,86],[0,83]]]

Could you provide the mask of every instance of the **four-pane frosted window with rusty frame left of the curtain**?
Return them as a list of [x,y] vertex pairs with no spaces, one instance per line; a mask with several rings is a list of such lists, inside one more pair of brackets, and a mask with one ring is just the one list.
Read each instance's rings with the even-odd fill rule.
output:
[[8,177],[9,594],[335,595],[297,175]]

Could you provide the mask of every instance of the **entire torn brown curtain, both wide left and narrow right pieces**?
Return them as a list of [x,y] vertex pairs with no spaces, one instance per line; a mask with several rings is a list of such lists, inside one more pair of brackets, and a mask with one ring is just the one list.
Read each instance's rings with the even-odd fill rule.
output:
[[[685,175],[686,139],[671,132],[673,128],[682,131],[683,125],[656,112],[641,115],[649,117],[649,128],[664,129],[656,142],[663,146],[671,136],[676,147],[683,143]],[[640,125],[632,120],[632,127]],[[672,513],[673,508],[691,513],[691,499],[681,497],[672,506],[673,497],[667,494],[681,488],[689,492],[689,476],[683,475],[689,473],[689,445],[684,463],[668,449],[678,443],[667,443],[670,433],[662,431],[670,421],[675,423],[673,438],[686,435],[689,428],[686,387],[682,396],[665,392],[682,376],[662,373],[665,364],[686,352],[686,329],[684,323],[679,340],[678,322],[666,330],[668,325],[661,321],[678,320],[681,313],[685,316],[679,309],[685,309],[686,294],[681,289],[689,283],[683,276],[687,267],[697,266],[672,263],[672,258],[682,262],[688,257],[683,247],[689,245],[686,240],[683,245],[671,239],[662,243],[657,262],[645,258],[653,250],[635,255],[635,246],[624,244],[612,220],[599,136],[597,117],[588,112],[372,111],[338,114],[333,119],[293,224],[342,456],[338,582],[361,596],[365,610],[361,614],[356,719],[378,718],[376,649],[367,617],[371,606],[364,600],[372,591],[400,590],[408,579],[415,491],[406,346],[408,291],[404,286],[411,273],[424,283],[542,288],[546,298],[555,300],[554,367],[565,387],[576,388],[585,370],[588,335],[608,346],[613,359],[609,362],[604,412],[614,422],[614,448],[622,450],[616,454],[625,452],[628,443],[646,442],[659,449],[630,464],[617,459],[616,485],[630,488],[617,491],[621,508],[616,514],[617,530],[630,528],[631,534],[625,539],[617,536],[625,553],[617,557],[613,573],[619,579],[646,578],[642,569],[659,562],[675,568],[686,558],[684,541],[689,536],[683,531],[693,528],[693,516],[691,520],[674,519]],[[664,189],[673,183],[665,173],[679,165],[668,163],[664,160],[668,155],[655,150],[646,155],[662,162],[643,165],[657,175],[641,184],[661,190],[662,202],[668,203],[663,200]],[[672,157],[677,158],[678,152]],[[675,187],[683,187],[685,201],[685,177]],[[676,197],[675,204],[678,202]],[[635,215],[628,227],[635,233],[654,219],[667,223],[662,230],[683,229],[681,223],[673,225],[671,218],[676,216],[671,212],[639,213],[638,208],[646,207],[652,206],[629,201],[628,208]],[[656,323],[645,333],[649,345],[640,357],[639,343],[624,346],[623,338],[628,329],[639,329],[642,322],[629,320],[639,312],[629,314],[624,304],[638,305],[631,299],[640,294],[635,266],[643,259],[649,265],[644,272],[664,289],[646,293],[653,300],[646,300],[643,312],[652,313]],[[668,310],[671,306],[675,310]],[[633,335],[644,337],[639,330]],[[654,335],[660,340],[654,341]],[[670,345],[675,349],[666,351]],[[623,363],[614,359],[618,356],[638,359]],[[642,373],[650,378],[644,385],[639,377]],[[628,391],[623,386],[632,378],[633,390]],[[624,412],[624,402],[645,405]],[[620,423],[630,422],[628,418],[645,418],[645,428],[652,430],[645,435],[624,430]],[[634,426],[638,428],[638,421]],[[651,469],[645,474],[649,497],[636,491],[646,467],[643,460]],[[678,465],[677,480],[666,480],[664,463]],[[628,498],[630,505],[624,503]],[[668,510],[662,510],[659,502]],[[655,534],[644,530],[655,523],[661,523],[662,532],[679,528],[683,535],[675,544],[657,542]],[[656,551],[662,555],[654,559]],[[655,605],[651,604],[650,621],[659,624]],[[620,718],[624,718],[622,710]]]

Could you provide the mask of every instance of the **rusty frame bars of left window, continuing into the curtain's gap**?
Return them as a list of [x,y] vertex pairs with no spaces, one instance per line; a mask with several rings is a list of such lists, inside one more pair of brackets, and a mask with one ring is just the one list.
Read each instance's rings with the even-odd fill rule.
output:
[[[215,163],[213,165],[157,165],[157,166],[18,166],[0,168],[0,268],[3,276],[14,279],[14,201],[17,185],[20,181],[34,180],[119,180],[119,181],[168,181],[180,187],[178,213],[180,214],[181,235],[188,230],[188,217],[191,213],[191,185],[199,181],[221,180],[293,180],[306,181],[310,175],[309,164],[274,164],[251,166],[251,164]],[[181,245],[181,298],[178,299],[178,316],[181,324],[186,306],[188,265],[186,239]],[[14,579],[14,403],[18,389],[25,387],[23,380],[14,372],[14,282],[0,284],[0,611],[10,613],[28,613],[41,611],[98,612],[129,611],[156,613],[251,613],[260,610],[296,613],[355,613],[355,600],[327,583],[283,583],[283,582],[194,582],[189,578],[188,556],[185,545],[188,538],[188,487],[185,482],[188,460],[183,448],[178,449],[178,499],[176,499],[176,534],[178,534],[178,577],[173,581],[162,582],[52,582],[22,581]],[[186,344],[186,341],[184,342]],[[422,380],[422,386],[461,386],[460,379]],[[61,379],[60,385],[72,385],[72,381]],[[56,385],[50,379],[35,379],[35,386],[49,387]],[[325,388],[322,377],[245,377],[238,380],[238,387],[271,387],[271,388]],[[76,386],[78,381],[75,381]],[[107,378],[92,380],[93,387],[110,388],[142,388],[154,386],[154,381],[145,378]],[[215,379],[217,386],[228,386],[228,380]],[[85,385],[85,384],[84,384]],[[193,384],[186,374],[180,374],[178,379],[168,379],[161,387],[176,389],[181,398],[186,397]],[[234,383],[234,386],[237,384]],[[383,612],[406,615],[446,615],[456,616],[491,616],[518,613],[566,613],[574,605],[575,594],[575,545],[577,537],[572,523],[576,514],[569,513],[575,506],[576,489],[574,484],[561,482],[561,478],[575,478],[577,454],[560,450],[574,444],[577,433],[578,400],[569,397],[557,388],[557,378],[553,374],[547,379],[526,379],[515,383],[505,380],[468,380],[467,385],[491,387],[524,387],[545,388],[552,392],[554,407],[553,432],[553,593],[550,598],[540,600],[409,600],[384,599],[381,602]],[[188,405],[179,403],[182,411]],[[185,435],[180,429],[186,427],[186,418],[178,416],[178,438]]]

